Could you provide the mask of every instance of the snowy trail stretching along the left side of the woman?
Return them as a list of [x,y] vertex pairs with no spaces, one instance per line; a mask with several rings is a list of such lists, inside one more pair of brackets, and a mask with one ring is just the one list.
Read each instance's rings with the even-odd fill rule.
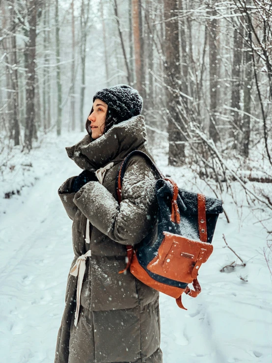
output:
[[63,151],[61,158],[32,188],[11,199],[7,215],[1,216],[2,363],[54,361],[73,258],[71,223],[56,193],[65,177],[78,171]]

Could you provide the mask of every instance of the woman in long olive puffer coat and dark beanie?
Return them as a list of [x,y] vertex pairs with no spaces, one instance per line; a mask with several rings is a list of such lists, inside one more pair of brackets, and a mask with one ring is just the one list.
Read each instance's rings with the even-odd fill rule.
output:
[[126,245],[139,243],[157,220],[156,176],[144,158],[128,162],[120,205],[115,190],[122,160],[135,149],[148,154],[141,109],[128,85],[97,92],[88,135],[66,148],[83,171],[58,190],[73,220],[75,258],[55,363],[162,362],[159,294],[129,271],[119,274]]

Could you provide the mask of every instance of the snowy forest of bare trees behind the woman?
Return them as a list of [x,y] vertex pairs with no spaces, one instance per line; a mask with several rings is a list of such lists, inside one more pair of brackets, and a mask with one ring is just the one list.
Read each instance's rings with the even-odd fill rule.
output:
[[2,151],[83,131],[94,92],[120,83],[169,165],[272,209],[247,184],[272,182],[270,0],[0,0]]

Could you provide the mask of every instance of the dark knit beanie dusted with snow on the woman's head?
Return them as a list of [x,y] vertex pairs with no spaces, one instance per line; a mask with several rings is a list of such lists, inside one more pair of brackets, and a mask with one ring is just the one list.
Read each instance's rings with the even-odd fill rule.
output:
[[142,111],[142,98],[138,91],[127,84],[117,84],[98,91],[93,102],[99,98],[118,115],[118,121],[137,116]]

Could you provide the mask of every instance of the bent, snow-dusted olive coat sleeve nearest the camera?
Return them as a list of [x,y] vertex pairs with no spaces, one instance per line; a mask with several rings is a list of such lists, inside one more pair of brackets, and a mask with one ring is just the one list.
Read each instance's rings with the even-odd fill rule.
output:
[[76,193],[74,202],[102,233],[123,245],[139,243],[157,218],[156,177],[141,157],[126,168],[120,205],[99,182],[89,182]]

